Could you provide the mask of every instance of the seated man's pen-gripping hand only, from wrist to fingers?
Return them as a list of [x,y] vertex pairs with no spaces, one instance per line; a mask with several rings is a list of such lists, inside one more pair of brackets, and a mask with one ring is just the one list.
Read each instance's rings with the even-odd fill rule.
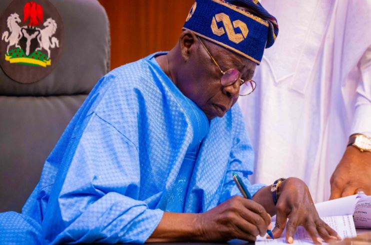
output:
[[264,208],[238,196],[200,214],[197,222],[204,241],[255,241],[256,236],[264,236],[271,229],[270,216]]

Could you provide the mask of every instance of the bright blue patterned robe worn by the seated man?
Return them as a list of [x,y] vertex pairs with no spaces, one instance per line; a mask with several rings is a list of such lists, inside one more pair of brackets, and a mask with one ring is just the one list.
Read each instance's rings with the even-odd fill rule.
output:
[[164,211],[201,213],[253,195],[239,107],[208,121],[155,53],[101,78],[45,161],[22,214],[0,215],[9,243],[144,243]]

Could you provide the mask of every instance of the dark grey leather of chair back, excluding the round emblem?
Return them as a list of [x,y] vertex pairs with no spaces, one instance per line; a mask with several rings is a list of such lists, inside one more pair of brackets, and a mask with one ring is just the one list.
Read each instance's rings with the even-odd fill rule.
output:
[[[37,2],[42,5],[43,1]],[[0,13],[10,2],[0,1]],[[0,69],[0,212],[21,211],[64,128],[109,70],[109,23],[99,2],[49,2],[64,26],[64,37],[59,41],[62,51],[54,69],[33,83],[16,82]],[[6,48],[4,40],[0,42],[0,48]]]

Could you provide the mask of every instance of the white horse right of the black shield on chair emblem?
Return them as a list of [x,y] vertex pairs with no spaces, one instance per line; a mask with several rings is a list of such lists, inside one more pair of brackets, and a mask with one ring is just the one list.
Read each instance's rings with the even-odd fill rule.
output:
[[36,51],[45,49],[47,51],[47,56],[50,59],[50,48],[59,47],[58,39],[55,36],[51,37],[55,34],[56,22],[54,19],[48,18],[43,25],[45,28],[40,29],[40,34],[37,36],[39,47],[36,48]]

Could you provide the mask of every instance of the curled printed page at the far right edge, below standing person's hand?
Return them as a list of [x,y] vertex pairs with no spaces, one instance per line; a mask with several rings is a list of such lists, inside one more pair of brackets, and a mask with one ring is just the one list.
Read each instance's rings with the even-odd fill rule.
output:
[[371,196],[358,199],[353,219],[356,228],[371,229]]

